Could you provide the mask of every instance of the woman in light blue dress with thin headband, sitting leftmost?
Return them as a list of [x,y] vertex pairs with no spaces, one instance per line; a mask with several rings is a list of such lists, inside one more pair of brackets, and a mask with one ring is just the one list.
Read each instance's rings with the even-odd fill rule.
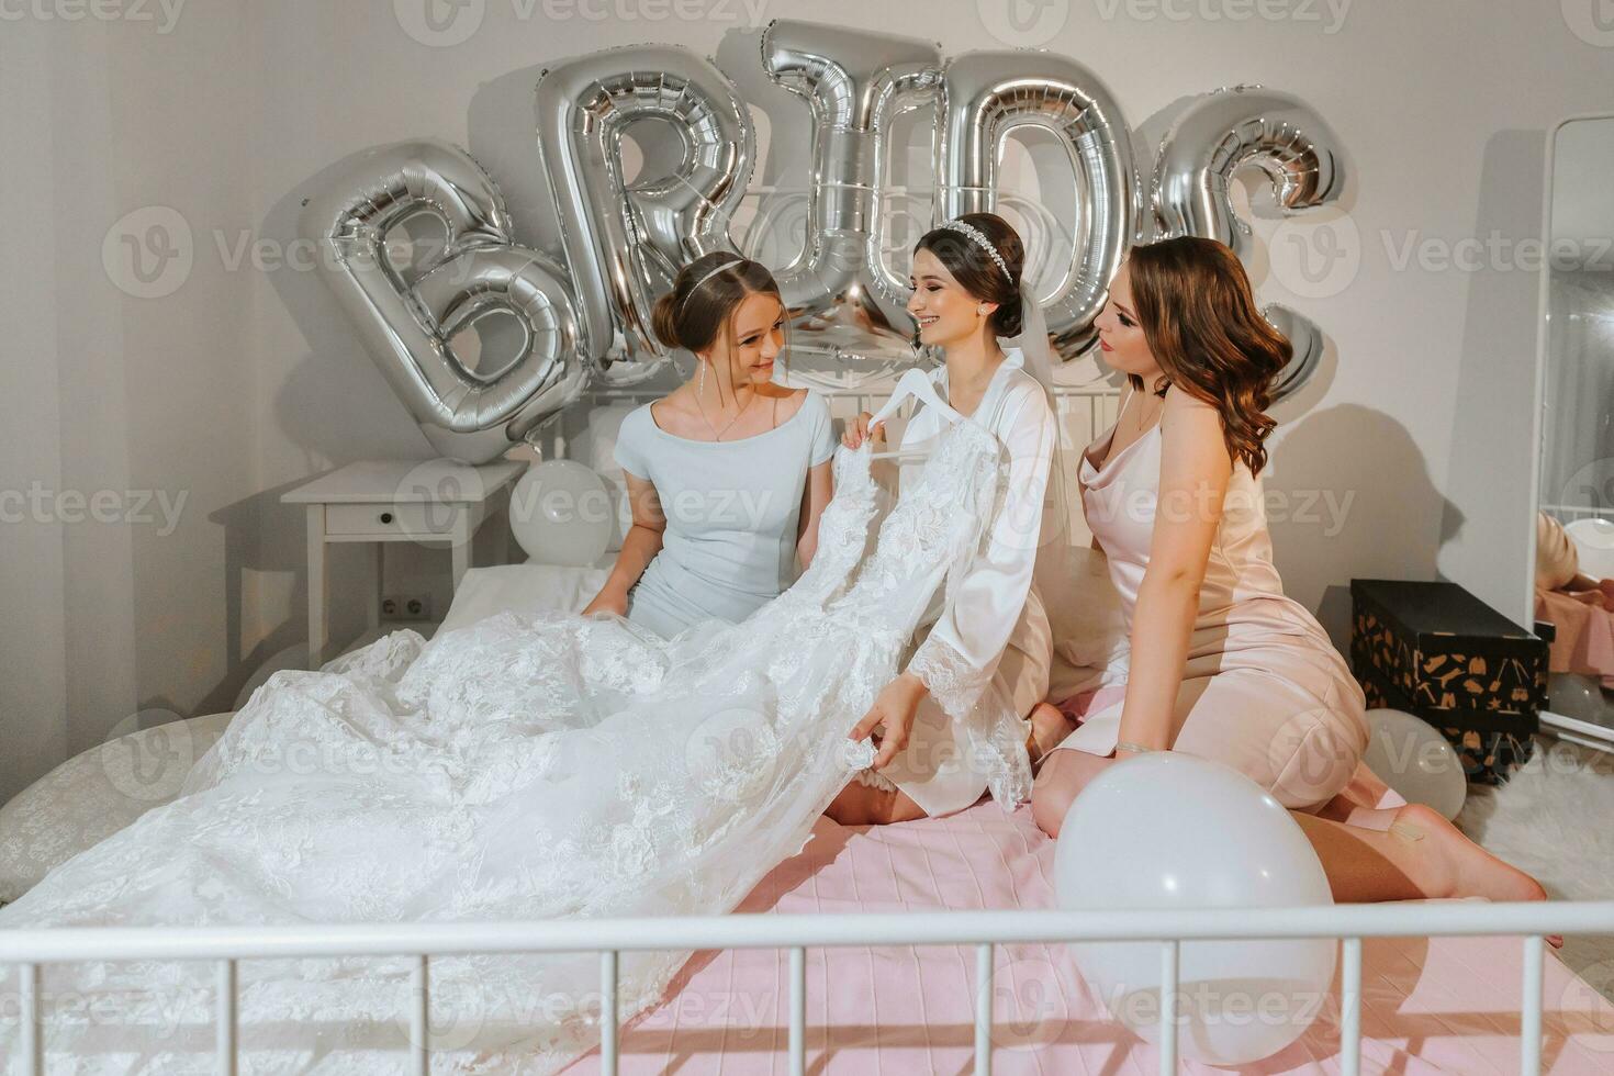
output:
[[712,253],[655,305],[655,334],[697,373],[636,408],[617,436],[633,528],[584,613],[612,611],[662,637],[741,621],[810,561],[830,502],[830,407],[773,382],[784,305],[757,261]]

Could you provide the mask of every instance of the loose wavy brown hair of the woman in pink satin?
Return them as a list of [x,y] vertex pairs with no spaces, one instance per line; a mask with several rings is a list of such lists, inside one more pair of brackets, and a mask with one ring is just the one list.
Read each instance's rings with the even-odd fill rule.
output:
[[[1133,247],[1131,297],[1149,350],[1170,384],[1222,415],[1228,455],[1261,474],[1277,423],[1272,382],[1294,355],[1256,307],[1244,266],[1225,244],[1181,236]],[[1128,374],[1133,389],[1143,377]]]

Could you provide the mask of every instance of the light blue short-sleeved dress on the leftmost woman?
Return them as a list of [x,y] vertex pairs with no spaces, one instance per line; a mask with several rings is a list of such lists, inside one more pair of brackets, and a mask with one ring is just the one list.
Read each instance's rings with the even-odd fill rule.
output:
[[738,623],[796,581],[796,528],[809,468],[836,448],[830,405],[807,390],[773,429],[736,440],[691,440],[634,408],[617,434],[617,463],[655,486],[667,516],[662,550],[628,590],[628,619],[670,639],[702,619]]

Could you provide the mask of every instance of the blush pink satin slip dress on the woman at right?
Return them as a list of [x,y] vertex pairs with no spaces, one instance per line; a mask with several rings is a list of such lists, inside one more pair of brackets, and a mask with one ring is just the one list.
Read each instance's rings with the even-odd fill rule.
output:
[[[1078,466],[1083,511],[1109,560],[1130,637],[1154,534],[1160,427],[1110,453],[1119,424],[1088,445]],[[1059,747],[1115,750],[1123,697],[1106,689]],[[1317,810],[1356,773],[1369,739],[1364,711],[1362,689],[1322,624],[1283,594],[1261,478],[1238,461],[1199,589],[1172,750],[1233,766],[1285,807]]]

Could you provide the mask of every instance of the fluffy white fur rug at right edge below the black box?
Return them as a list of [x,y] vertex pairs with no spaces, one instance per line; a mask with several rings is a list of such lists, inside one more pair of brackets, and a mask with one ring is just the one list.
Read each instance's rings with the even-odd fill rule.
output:
[[[1528,871],[1553,900],[1614,897],[1614,755],[1535,737],[1507,784],[1469,786],[1457,828]],[[1614,1000],[1614,936],[1569,936],[1559,958]]]

